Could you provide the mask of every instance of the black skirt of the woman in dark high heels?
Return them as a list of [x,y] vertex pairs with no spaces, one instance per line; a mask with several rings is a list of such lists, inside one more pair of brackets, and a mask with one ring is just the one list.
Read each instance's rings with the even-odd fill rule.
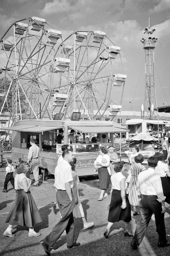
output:
[[121,209],[122,198],[121,198],[120,190],[113,189],[109,213],[108,213],[108,222],[112,222],[112,223],[119,222],[119,221],[130,222],[131,221],[131,205],[129,203],[129,199],[127,195],[126,195],[126,204],[127,204],[126,208]]

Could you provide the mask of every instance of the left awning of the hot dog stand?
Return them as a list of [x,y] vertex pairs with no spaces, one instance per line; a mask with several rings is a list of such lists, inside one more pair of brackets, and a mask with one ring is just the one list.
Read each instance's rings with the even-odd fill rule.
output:
[[42,132],[42,131],[50,131],[55,129],[62,129],[61,126],[32,126],[32,125],[20,125],[20,126],[13,126],[7,127],[5,130],[10,131],[23,131],[23,132]]

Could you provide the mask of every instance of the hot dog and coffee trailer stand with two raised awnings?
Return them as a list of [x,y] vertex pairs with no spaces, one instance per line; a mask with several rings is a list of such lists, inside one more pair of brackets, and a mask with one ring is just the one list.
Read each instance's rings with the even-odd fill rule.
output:
[[[94,161],[99,155],[100,146],[110,146],[114,143],[114,132],[128,132],[129,130],[118,127],[118,124],[100,120],[19,120],[12,130],[12,160],[19,157],[27,160],[30,138],[36,140],[40,148],[40,167],[54,174],[57,160],[62,154],[63,144],[69,144],[77,158],[76,170],[78,176],[94,175]],[[59,130],[63,129],[62,143],[56,143]],[[74,130],[74,134],[70,134]],[[75,143],[69,137],[74,136]],[[85,143],[89,138],[89,143]],[[91,138],[95,137],[96,142]]]

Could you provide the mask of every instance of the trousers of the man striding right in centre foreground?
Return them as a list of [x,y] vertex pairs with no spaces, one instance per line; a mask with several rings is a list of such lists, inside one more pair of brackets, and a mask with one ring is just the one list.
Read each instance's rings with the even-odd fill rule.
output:
[[63,190],[57,190],[56,198],[62,218],[54,226],[51,233],[44,238],[44,242],[52,247],[66,230],[67,246],[71,246],[74,243],[74,219],[72,214],[75,206],[74,198],[70,201],[67,192]]

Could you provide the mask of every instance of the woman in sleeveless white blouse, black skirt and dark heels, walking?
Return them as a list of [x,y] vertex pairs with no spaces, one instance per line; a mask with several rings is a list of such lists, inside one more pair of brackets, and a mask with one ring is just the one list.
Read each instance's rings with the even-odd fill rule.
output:
[[124,221],[124,236],[133,237],[129,230],[129,223],[131,221],[131,205],[125,192],[127,183],[126,178],[122,174],[124,169],[123,161],[115,163],[115,173],[111,176],[113,192],[108,214],[108,224],[103,233],[105,238],[108,238],[108,233],[113,223],[119,221]]

